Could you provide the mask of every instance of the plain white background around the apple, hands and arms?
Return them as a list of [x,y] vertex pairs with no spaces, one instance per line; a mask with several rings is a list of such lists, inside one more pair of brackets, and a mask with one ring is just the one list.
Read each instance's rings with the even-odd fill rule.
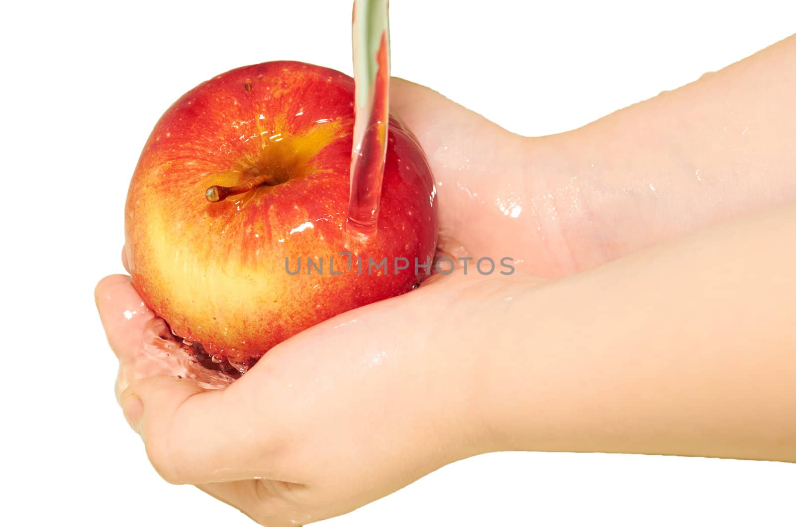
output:
[[[294,59],[350,74],[351,6],[8,2],[2,82],[3,525],[251,525],[162,482],[113,396],[92,290],[122,271],[127,184],[202,80]],[[794,2],[393,0],[393,74],[544,135],[796,32]],[[796,87],[794,87],[796,94]],[[794,525],[796,466],[508,453],[455,463],[340,525]]]

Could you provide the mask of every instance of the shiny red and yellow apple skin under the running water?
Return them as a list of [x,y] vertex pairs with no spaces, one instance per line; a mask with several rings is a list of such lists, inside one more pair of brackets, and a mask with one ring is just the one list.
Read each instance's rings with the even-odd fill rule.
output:
[[[394,115],[377,236],[345,228],[353,93],[351,77],[311,64],[238,68],[182,96],[146,142],[125,211],[132,283],[174,334],[217,361],[245,368],[291,335],[410,291],[428,274],[414,263],[435,252],[434,182]],[[212,185],[259,174],[281,183],[216,203],[205,197]],[[352,268],[340,252],[352,253]],[[322,273],[307,273],[309,257],[322,258]],[[330,273],[330,257],[341,274]],[[384,257],[387,272],[369,272],[368,258]],[[409,268],[396,271],[396,257]],[[291,271],[300,258],[297,275],[286,258]]]

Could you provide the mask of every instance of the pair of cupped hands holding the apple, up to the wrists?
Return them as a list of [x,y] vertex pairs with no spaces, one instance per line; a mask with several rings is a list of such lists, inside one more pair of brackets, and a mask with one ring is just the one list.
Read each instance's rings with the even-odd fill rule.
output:
[[[550,271],[558,256],[549,247],[513,241],[523,139],[407,81],[393,80],[392,106],[439,185],[439,252]],[[263,525],[300,525],[488,449],[478,356],[460,329],[478,325],[491,297],[534,282],[500,270],[459,267],[322,322],[234,383],[181,353],[128,276],[103,279],[96,301],[119,357],[117,397],[158,473]]]

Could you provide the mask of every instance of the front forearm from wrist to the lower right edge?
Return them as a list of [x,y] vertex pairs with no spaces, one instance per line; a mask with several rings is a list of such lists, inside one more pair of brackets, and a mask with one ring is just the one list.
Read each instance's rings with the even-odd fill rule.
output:
[[794,232],[790,207],[515,291],[491,447],[796,461]]

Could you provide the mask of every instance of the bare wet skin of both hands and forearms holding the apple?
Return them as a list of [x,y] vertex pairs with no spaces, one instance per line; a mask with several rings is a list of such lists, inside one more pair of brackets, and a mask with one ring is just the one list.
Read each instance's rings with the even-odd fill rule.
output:
[[[605,264],[794,200],[796,38],[548,138],[392,83],[392,110],[438,183],[440,249],[513,256],[517,273],[440,276],[341,314],[220,390],[168,369],[150,377],[140,356],[161,323],[125,276],[104,279],[117,391],[167,480],[264,525],[295,525],[500,448],[796,459],[783,450],[796,431],[777,419],[796,411],[782,377],[796,368],[785,353],[793,306],[769,298],[796,298],[796,258],[778,234],[796,228],[793,210]],[[743,347],[760,335],[766,346]],[[585,382],[606,364],[610,382]]]

